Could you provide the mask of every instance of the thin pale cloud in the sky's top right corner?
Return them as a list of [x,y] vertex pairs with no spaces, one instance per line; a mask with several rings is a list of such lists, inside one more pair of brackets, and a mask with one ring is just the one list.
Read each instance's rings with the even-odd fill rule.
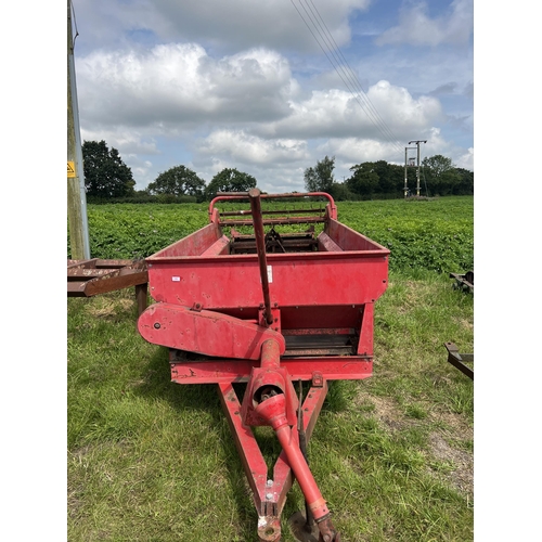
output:
[[454,0],[450,13],[430,18],[427,3],[415,3],[400,12],[400,24],[383,33],[378,46],[409,43],[413,46],[462,44],[473,34],[473,0]]

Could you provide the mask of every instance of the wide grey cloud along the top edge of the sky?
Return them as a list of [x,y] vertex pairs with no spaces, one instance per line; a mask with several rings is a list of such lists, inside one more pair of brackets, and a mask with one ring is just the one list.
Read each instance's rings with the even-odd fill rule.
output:
[[370,3],[371,0],[335,0],[308,7],[299,0],[75,0],[75,8],[79,20],[92,22],[88,29],[91,39],[104,44],[126,43],[139,33],[140,37],[147,34],[149,39],[165,42],[197,41],[229,53],[255,43],[279,51],[320,52],[296,8],[306,20],[309,15],[322,17],[341,47],[351,38],[348,16],[354,10],[366,10]]

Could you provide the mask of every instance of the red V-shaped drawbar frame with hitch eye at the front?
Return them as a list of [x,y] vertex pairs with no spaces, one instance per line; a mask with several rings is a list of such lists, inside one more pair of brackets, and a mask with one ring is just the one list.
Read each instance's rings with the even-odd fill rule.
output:
[[[284,450],[273,466],[273,479],[268,480],[268,465],[261,454],[258,442],[250,427],[241,420],[241,403],[231,382],[218,384],[219,397],[230,425],[235,446],[245,470],[245,476],[253,490],[253,501],[258,513],[258,537],[261,541],[281,540],[280,518],[286,502],[286,495],[294,483],[294,475]],[[302,404],[304,429],[307,442],[322,410],[327,395],[327,383],[312,386]],[[292,427],[293,444],[299,446],[297,427]]]

